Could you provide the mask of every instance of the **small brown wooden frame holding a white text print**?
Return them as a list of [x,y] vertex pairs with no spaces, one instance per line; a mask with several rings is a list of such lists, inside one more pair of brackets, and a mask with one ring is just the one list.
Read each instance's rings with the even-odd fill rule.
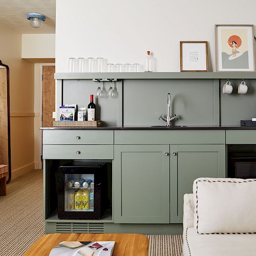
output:
[[208,71],[208,42],[180,41],[180,72]]

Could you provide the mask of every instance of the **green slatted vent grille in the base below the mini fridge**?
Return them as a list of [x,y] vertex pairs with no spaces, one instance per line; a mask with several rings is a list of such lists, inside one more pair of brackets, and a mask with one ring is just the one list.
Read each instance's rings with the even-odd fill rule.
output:
[[56,223],[56,233],[104,233],[104,224]]

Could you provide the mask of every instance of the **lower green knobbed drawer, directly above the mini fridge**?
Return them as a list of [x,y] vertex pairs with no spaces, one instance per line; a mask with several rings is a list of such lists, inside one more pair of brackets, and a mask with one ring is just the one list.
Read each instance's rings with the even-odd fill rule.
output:
[[114,159],[114,145],[44,145],[44,159]]

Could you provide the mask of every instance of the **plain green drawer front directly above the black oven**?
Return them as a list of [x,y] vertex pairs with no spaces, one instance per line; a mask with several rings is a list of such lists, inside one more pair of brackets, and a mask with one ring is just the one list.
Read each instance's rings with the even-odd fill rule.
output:
[[227,130],[226,144],[256,144],[256,130]]

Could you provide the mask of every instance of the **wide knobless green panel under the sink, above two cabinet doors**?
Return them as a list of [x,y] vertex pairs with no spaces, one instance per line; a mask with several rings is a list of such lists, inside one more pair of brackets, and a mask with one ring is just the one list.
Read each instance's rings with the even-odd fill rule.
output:
[[225,144],[225,130],[115,131],[115,144]]

